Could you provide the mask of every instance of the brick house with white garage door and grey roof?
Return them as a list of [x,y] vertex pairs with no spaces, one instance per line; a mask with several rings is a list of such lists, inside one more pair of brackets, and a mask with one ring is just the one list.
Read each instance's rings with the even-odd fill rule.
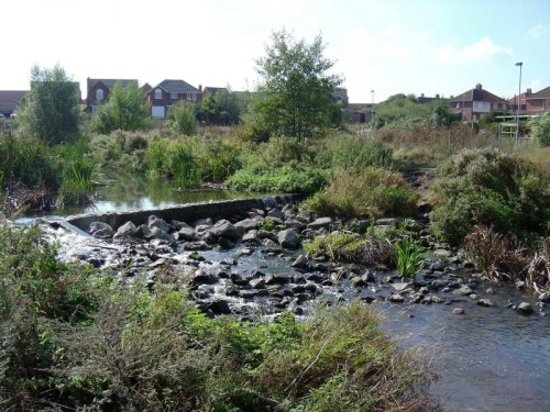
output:
[[151,115],[164,119],[168,108],[178,101],[200,102],[202,86],[197,89],[184,80],[163,80],[148,91],[146,99],[151,102]]

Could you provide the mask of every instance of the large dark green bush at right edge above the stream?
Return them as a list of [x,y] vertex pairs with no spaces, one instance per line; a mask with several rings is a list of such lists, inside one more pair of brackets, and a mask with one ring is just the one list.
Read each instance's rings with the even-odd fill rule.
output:
[[527,236],[550,220],[548,179],[532,164],[498,149],[465,151],[442,168],[435,187],[436,233],[457,245],[475,224]]

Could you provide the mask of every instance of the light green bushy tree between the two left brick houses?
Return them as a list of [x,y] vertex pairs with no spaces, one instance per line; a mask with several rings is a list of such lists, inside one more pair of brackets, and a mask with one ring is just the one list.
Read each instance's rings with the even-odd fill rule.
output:
[[138,131],[150,126],[151,108],[138,85],[114,83],[109,101],[100,105],[91,119],[91,129],[109,134],[116,130]]

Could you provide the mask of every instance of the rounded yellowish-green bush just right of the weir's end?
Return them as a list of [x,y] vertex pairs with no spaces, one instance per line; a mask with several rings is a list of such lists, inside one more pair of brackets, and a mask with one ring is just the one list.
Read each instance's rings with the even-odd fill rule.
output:
[[305,202],[305,207],[319,215],[410,216],[417,210],[418,196],[402,176],[377,167],[354,174],[339,171],[330,186]]

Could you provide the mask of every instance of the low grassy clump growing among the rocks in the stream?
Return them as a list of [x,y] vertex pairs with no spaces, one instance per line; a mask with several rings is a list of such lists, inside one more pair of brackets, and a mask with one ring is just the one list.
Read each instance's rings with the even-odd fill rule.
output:
[[386,240],[340,232],[317,236],[304,249],[314,255],[326,255],[332,260],[383,266],[392,260],[394,250]]

